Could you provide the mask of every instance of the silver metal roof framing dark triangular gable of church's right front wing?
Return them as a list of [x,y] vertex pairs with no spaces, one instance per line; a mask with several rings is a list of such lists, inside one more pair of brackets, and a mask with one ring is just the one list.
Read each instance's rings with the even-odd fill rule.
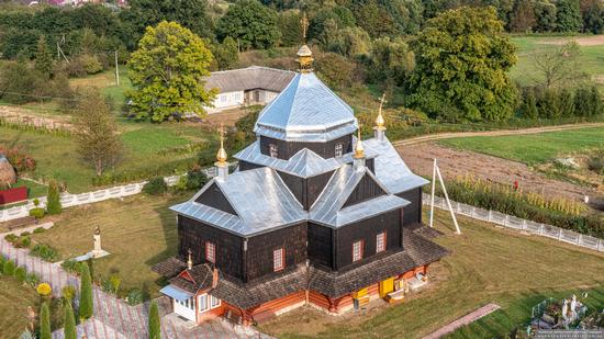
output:
[[[376,180],[388,194],[343,208],[350,193],[366,174]],[[392,195],[367,168],[355,170],[351,165],[346,165],[332,176],[321,195],[311,206],[309,217],[311,221],[340,227],[394,208],[404,207],[410,203],[404,199]]]

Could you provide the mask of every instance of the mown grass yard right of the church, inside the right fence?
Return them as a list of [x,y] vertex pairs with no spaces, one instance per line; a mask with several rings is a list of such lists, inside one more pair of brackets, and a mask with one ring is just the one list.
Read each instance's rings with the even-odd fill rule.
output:
[[[478,307],[496,303],[502,310],[456,335],[493,338],[528,321],[533,302],[547,296],[594,290],[599,307],[604,307],[602,253],[497,229],[465,217],[460,218],[463,234],[455,236],[450,217],[440,211],[435,225],[446,233],[436,241],[452,255],[432,267],[432,284],[427,290],[403,304],[365,316],[331,317],[304,308],[261,329],[280,338],[421,338]],[[529,310],[525,313],[527,307]]]

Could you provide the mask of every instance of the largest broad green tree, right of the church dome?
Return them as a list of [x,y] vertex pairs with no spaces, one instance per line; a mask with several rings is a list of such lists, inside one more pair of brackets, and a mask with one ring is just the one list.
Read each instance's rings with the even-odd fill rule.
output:
[[505,121],[518,95],[507,76],[516,47],[493,8],[449,10],[411,43],[415,69],[409,99],[434,117]]

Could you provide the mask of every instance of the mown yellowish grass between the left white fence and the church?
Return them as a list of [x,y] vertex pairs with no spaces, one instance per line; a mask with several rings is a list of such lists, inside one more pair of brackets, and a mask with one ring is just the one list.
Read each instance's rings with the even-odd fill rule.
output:
[[97,279],[118,270],[122,291],[146,284],[157,296],[155,281],[160,276],[150,267],[174,256],[177,246],[176,218],[168,207],[187,197],[136,195],[69,208],[52,229],[32,235],[32,239],[55,247],[65,260],[90,251],[92,233],[99,226],[103,249],[111,256],[94,261]]

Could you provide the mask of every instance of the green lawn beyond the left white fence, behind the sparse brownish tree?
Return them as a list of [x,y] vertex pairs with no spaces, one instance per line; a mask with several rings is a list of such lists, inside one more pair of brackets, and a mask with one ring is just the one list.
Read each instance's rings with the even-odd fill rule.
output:
[[[139,180],[134,174],[141,172],[171,174],[176,168],[182,168],[183,162],[192,163],[198,158],[198,151],[171,154],[159,152],[160,150],[203,140],[208,140],[210,145],[216,144],[215,134],[186,124],[131,122],[120,124],[120,129],[123,154],[120,162],[110,172],[130,173],[133,180]],[[72,137],[0,126],[0,145],[16,146],[32,156],[37,162],[37,168],[32,173],[34,179],[65,182],[71,193],[94,189],[92,179],[96,173],[90,165],[81,160]],[[214,151],[214,148],[210,146],[204,151]],[[40,193],[38,188],[34,192]]]

